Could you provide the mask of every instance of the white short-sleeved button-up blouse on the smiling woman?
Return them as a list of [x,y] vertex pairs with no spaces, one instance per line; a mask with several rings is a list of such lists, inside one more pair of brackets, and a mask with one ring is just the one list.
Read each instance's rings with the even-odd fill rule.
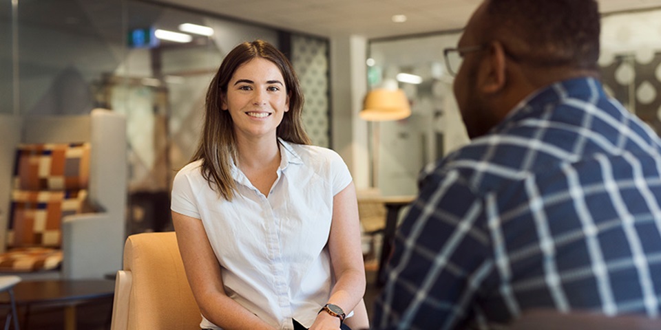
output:
[[[328,253],[333,196],[352,178],[327,148],[280,142],[280,167],[266,197],[235,166],[232,201],[218,197],[200,162],[174,179],[171,209],[200,219],[227,295],[278,329],[310,327],[334,283]],[[202,318],[202,328],[220,329]]]

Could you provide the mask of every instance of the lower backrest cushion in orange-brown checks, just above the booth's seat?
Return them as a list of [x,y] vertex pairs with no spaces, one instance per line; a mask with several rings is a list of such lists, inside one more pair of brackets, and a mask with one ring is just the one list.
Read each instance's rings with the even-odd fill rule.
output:
[[59,248],[62,244],[62,218],[82,213],[86,197],[87,190],[14,190],[7,232],[8,247]]

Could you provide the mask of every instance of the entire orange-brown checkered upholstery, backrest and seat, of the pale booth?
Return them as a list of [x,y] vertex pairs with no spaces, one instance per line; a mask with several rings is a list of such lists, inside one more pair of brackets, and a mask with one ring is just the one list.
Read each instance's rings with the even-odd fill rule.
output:
[[[59,267],[61,221],[83,211],[90,144],[21,144],[17,148],[4,271]],[[27,250],[26,250],[27,249]]]

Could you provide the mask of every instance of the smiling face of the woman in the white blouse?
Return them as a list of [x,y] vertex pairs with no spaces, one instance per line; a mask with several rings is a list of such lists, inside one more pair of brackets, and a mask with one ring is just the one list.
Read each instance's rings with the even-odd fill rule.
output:
[[227,84],[222,110],[229,111],[237,137],[275,138],[289,111],[284,77],[273,62],[253,58],[238,67]]

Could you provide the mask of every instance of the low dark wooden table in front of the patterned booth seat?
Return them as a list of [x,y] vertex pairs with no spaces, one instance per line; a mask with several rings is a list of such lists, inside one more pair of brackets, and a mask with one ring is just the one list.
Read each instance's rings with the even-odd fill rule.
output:
[[[64,308],[64,329],[76,329],[76,306],[90,300],[112,298],[115,282],[109,280],[50,280],[22,281],[14,286],[17,307],[25,307],[21,329],[28,329],[30,308],[51,306]],[[6,296],[0,296],[0,305],[10,305]]]

